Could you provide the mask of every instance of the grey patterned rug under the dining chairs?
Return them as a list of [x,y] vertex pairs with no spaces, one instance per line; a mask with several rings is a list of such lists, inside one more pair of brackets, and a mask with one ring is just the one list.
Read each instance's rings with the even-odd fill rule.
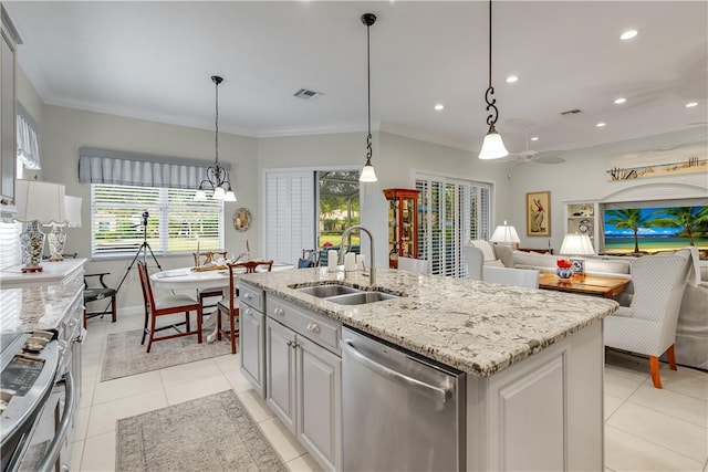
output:
[[110,334],[101,381],[231,354],[228,340],[207,343],[212,329],[204,331],[201,344],[197,343],[197,336],[176,337],[153,343],[149,354],[145,352],[147,339],[140,345],[140,329]]

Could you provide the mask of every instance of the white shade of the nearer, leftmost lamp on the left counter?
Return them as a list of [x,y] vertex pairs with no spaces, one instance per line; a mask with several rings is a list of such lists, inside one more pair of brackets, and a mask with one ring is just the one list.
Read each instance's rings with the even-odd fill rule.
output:
[[15,191],[14,219],[17,221],[39,221],[45,224],[66,222],[64,186],[37,180],[18,180]]

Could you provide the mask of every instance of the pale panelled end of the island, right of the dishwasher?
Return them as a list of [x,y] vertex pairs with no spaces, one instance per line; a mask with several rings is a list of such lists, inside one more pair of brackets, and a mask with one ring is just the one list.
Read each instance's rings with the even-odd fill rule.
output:
[[491,377],[468,376],[467,470],[602,470],[602,323]]

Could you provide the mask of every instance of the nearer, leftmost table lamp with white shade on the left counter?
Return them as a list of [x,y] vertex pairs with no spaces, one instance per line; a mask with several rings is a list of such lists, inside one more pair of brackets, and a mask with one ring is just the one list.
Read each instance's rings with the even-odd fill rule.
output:
[[64,186],[37,180],[18,180],[14,220],[24,224],[20,233],[22,272],[41,272],[44,233],[40,223],[64,223]]

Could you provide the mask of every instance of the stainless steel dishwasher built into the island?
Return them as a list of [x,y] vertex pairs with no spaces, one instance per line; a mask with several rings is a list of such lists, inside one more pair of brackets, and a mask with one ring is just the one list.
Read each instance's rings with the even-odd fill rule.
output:
[[342,329],[344,471],[466,468],[466,374]]

